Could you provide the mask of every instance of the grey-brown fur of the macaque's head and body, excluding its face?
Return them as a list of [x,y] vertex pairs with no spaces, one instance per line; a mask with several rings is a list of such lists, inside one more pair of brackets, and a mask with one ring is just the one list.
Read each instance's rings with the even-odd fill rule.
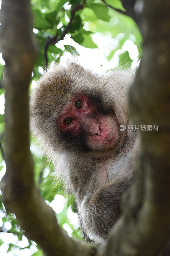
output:
[[31,94],[30,127],[53,161],[56,177],[73,192],[82,228],[96,242],[106,239],[120,215],[121,197],[133,182],[139,139],[126,130],[118,133],[114,147],[87,150],[78,141],[63,140],[57,118],[74,95],[90,92],[99,97],[101,108],[108,109],[119,130],[120,124],[130,124],[127,93],[132,81],[131,72],[96,75],[68,62],[47,70]]

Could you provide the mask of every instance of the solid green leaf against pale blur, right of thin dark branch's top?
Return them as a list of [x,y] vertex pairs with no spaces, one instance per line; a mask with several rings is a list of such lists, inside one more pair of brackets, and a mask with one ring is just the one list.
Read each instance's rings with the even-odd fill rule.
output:
[[108,7],[104,4],[91,4],[90,5],[93,12],[96,14],[97,18],[105,21],[110,20],[110,16],[108,14]]

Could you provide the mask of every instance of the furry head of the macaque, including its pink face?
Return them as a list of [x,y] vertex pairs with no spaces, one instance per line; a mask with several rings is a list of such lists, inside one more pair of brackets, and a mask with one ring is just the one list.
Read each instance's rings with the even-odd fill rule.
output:
[[119,125],[126,125],[126,116],[121,76],[119,84],[117,79],[75,63],[46,71],[31,95],[30,128],[49,154],[66,150],[98,156],[100,151],[106,156],[121,146],[125,131]]

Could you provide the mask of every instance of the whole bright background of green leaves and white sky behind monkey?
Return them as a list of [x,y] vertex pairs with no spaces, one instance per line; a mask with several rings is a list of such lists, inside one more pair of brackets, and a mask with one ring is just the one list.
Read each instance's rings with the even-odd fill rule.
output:
[[[72,15],[71,10],[78,3],[82,4],[83,8]],[[64,62],[74,54],[78,56],[84,68],[93,68],[97,73],[117,67],[133,70],[137,68],[142,53],[142,36],[136,23],[121,13],[125,10],[119,0],[32,0],[31,5],[33,33],[38,41],[38,57],[32,72],[30,90],[36,87],[36,81],[43,74],[47,64]],[[66,29],[67,33],[64,33]],[[0,180],[6,169],[4,64],[0,53]],[[30,148],[34,159],[35,181],[40,194],[46,204],[56,212],[59,224],[68,235],[83,239],[74,197],[65,194],[61,182],[53,182],[54,170],[46,161],[43,149],[33,138]],[[1,196],[0,191],[0,255],[41,256],[39,247],[28,240],[19,229],[15,215],[5,211]]]

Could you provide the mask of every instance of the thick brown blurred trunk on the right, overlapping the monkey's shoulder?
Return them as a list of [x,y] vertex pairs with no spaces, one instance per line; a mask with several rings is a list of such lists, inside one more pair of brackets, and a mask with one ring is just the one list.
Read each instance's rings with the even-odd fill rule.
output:
[[[159,255],[169,240],[169,13],[169,0],[164,4],[161,0],[144,1],[143,58],[131,88],[130,109],[135,124],[158,124],[159,131],[141,132],[143,153],[135,184],[111,232],[105,248],[108,256]],[[170,251],[166,253],[163,255],[170,255]]]

